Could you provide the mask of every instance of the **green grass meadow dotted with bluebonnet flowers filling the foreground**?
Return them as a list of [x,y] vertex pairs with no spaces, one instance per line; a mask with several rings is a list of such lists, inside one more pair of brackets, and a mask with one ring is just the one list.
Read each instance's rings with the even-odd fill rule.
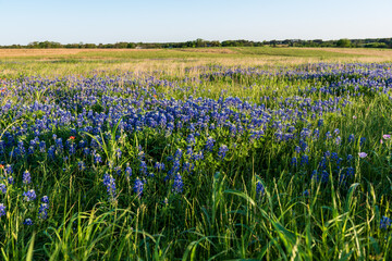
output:
[[392,258],[392,63],[193,62],[3,59],[0,260]]

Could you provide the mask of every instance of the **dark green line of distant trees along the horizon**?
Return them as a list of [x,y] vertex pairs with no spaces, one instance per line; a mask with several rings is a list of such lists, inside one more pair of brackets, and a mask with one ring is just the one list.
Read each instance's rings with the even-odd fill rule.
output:
[[196,39],[183,42],[126,42],[120,41],[115,44],[60,44],[57,41],[33,41],[26,46],[11,45],[0,46],[0,48],[29,48],[29,49],[161,49],[161,48],[204,48],[204,47],[343,47],[343,48],[392,48],[392,38],[376,39],[339,39],[339,40],[269,40],[269,41],[250,41],[250,40],[204,40]]

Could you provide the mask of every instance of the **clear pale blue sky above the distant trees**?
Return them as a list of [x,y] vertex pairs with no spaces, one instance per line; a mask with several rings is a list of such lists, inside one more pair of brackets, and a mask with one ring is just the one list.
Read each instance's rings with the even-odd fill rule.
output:
[[392,0],[0,0],[0,45],[392,37]]

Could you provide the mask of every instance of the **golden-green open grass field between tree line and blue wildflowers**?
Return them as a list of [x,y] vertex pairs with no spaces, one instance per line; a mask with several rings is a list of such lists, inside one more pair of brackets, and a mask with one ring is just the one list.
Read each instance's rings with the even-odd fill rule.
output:
[[0,49],[0,77],[152,72],[184,75],[185,67],[290,66],[317,62],[388,62],[392,50],[346,48],[199,48],[199,49]]

